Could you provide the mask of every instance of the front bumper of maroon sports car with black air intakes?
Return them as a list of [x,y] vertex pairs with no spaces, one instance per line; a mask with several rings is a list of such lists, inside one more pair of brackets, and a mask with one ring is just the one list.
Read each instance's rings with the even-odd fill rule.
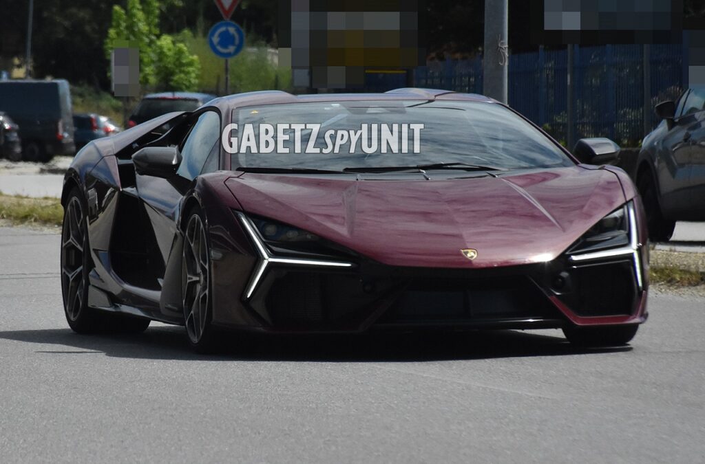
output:
[[216,311],[214,322],[220,325],[266,332],[364,332],[538,329],[646,320],[648,282],[639,244],[633,253],[577,260],[560,256],[505,268],[405,268],[362,256],[273,256],[244,216],[240,222],[259,258],[250,261],[243,285],[221,286],[221,291],[237,294],[220,300],[232,302]]

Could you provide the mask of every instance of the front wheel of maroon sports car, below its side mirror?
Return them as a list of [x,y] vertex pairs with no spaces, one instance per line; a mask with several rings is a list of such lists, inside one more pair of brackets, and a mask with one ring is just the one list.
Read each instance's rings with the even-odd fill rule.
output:
[[201,208],[190,210],[183,241],[181,278],[186,338],[197,353],[213,353],[219,334],[212,326],[210,241]]

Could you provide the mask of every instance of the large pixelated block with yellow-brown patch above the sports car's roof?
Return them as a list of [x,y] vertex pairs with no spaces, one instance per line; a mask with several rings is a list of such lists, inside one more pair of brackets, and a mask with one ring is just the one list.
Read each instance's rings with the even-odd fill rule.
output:
[[278,14],[279,65],[291,68],[295,87],[406,82],[395,73],[426,62],[425,0],[281,0]]

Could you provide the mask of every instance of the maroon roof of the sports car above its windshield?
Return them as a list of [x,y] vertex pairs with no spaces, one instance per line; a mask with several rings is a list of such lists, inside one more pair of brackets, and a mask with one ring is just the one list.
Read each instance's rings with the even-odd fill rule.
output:
[[208,106],[216,106],[221,111],[229,111],[235,107],[266,104],[305,103],[314,101],[365,101],[365,100],[446,100],[446,101],[482,101],[496,103],[496,100],[479,94],[462,94],[443,89],[394,89],[384,93],[357,94],[302,94],[294,95],[280,90],[265,90],[221,96],[209,102]]

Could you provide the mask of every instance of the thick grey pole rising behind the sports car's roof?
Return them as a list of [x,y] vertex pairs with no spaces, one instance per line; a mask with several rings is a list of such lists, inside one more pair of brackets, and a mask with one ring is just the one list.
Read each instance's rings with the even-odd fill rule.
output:
[[483,93],[507,103],[508,0],[485,0]]

